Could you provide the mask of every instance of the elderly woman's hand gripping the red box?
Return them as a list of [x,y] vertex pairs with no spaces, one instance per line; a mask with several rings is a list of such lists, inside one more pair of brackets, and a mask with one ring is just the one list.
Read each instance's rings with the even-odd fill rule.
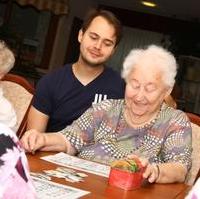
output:
[[158,180],[160,175],[160,168],[157,164],[150,164],[146,158],[138,157],[136,155],[128,155],[129,159],[138,158],[143,167],[146,167],[143,178],[147,179],[150,183],[154,183]]

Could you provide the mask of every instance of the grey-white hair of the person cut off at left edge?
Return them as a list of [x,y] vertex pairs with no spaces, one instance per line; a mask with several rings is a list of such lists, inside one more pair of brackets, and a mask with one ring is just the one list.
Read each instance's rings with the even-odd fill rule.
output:
[[0,74],[8,73],[14,66],[15,57],[5,42],[0,41]]

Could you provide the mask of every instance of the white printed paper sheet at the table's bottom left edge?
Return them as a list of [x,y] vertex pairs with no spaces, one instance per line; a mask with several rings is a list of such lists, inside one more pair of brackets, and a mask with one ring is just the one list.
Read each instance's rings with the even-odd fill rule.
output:
[[58,184],[44,179],[32,177],[37,199],[79,198],[90,192],[74,187]]

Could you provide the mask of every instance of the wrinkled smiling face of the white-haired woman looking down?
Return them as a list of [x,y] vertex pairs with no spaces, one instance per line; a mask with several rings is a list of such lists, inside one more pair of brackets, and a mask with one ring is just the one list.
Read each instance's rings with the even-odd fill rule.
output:
[[125,101],[131,115],[148,116],[156,113],[168,95],[169,88],[162,73],[154,65],[137,65],[127,79]]

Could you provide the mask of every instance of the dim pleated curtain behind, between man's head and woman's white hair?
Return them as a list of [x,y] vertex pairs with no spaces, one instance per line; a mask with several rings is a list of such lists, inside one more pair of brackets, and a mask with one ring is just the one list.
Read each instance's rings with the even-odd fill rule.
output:
[[122,64],[126,55],[133,48],[145,47],[150,44],[157,44],[163,46],[163,41],[166,42],[166,35],[135,29],[130,27],[123,27],[123,36],[120,41],[115,54],[107,62],[107,64],[117,71],[121,71]]

